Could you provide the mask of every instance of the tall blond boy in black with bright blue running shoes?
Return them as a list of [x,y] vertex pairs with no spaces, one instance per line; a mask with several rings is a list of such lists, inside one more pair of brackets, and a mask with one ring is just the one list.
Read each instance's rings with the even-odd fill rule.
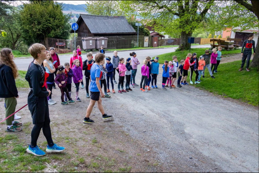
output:
[[[45,83],[47,81],[48,73],[42,65],[43,61],[47,59],[46,48],[44,45],[35,43],[30,46],[29,52],[34,58],[30,63],[25,79],[29,82],[30,92],[28,95],[28,107],[32,114],[32,123],[34,127],[31,133],[31,144],[26,149],[28,153],[36,156],[45,155],[44,151],[38,148],[37,140],[40,135],[41,129],[45,138],[47,139],[47,152],[59,152],[58,148],[65,149],[54,144],[50,130],[50,115],[47,96],[50,95],[50,90],[46,89]],[[56,148],[52,150],[52,147]],[[61,151],[61,150],[60,150]]]

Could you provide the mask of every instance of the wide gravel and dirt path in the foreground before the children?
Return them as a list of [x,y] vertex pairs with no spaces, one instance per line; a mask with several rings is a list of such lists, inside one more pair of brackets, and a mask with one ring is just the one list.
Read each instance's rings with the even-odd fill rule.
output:
[[[141,62],[145,56],[138,58]],[[222,63],[234,60],[240,60],[239,55],[223,57]],[[85,89],[79,91],[82,102],[69,105],[61,105],[59,89],[53,90],[53,99],[58,103],[49,106],[52,136],[54,142],[66,147],[66,153],[61,155],[64,160],[52,158],[61,166],[59,171],[93,172],[85,166],[92,162],[99,164],[95,168],[98,172],[259,171],[257,107],[215,97],[193,86],[163,91],[161,74],[157,85],[158,89],[146,93],[139,87],[129,93],[111,93],[111,98],[102,100],[105,112],[114,118],[101,120],[95,106],[91,115],[95,123],[91,125],[82,122],[90,101]],[[19,95],[17,108],[27,102],[27,89],[19,89]],[[74,95],[75,88],[72,98]],[[0,99],[0,119],[5,114],[3,104]],[[18,115],[25,124],[19,136],[26,146],[33,127],[28,107]],[[0,131],[5,128],[5,124],[0,125]],[[46,145],[42,133],[38,145]],[[78,162],[78,157],[85,161]]]

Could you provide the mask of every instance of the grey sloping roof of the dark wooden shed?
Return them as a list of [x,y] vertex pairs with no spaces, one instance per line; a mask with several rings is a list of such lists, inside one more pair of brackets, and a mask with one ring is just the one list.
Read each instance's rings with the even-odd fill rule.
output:
[[[125,16],[96,16],[80,14],[87,27],[94,33],[135,33]],[[78,22],[79,20],[77,20]]]

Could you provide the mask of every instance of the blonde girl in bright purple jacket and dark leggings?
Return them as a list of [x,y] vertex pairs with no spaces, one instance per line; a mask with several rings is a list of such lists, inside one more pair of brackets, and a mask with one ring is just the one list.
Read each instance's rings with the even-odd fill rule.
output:
[[82,68],[79,66],[79,60],[75,59],[74,60],[74,68],[73,68],[73,81],[77,87],[77,91],[76,91],[76,101],[81,101],[80,98],[78,97],[78,91],[79,91],[79,84],[80,82],[83,81],[83,72],[82,72]]

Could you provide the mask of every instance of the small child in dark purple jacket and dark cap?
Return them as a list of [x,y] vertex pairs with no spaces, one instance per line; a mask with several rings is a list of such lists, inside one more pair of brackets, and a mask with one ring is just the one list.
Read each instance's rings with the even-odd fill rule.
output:
[[[68,104],[68,103],[74,103],[75,101],[73,101],[70,97],[69,97],[69,93],[68,93],[68,88],[66,86],[66,82],[67,82],[68,78],[65,74],[65,66],[58,66],[58,71],[57,71],[57,75],[55,78],[55,83],[59,86],[60,91],[61,91],[61,104]],[[68,102],[64,101],[64,93],[67,94],[68,97]]]

